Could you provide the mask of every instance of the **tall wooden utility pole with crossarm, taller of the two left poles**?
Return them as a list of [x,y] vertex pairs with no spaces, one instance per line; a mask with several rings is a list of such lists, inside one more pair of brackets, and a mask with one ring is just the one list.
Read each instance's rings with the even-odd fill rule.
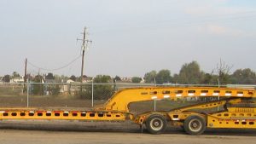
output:
[[80,87],[80,91],[82,92],[82,83],[84,80],[84,78],[83,78],[83,76],[84,76],[84,52],[88,47],[88,43],[92,43],[92,41],[86,39],[87,38],[86,27],[84,27],[84,32],[81,34],[83,34],[83,39],[77,38],[77,40],[83,41],[83,43],[82,43],[82,66],[81,66],[81,87]]

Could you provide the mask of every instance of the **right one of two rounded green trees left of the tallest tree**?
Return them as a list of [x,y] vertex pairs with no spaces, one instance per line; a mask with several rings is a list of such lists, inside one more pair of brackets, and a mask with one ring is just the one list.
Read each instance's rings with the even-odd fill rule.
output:
[[171,72],[169,70],[160,70],[155,77],[156,84],[170,83],[172,81]]

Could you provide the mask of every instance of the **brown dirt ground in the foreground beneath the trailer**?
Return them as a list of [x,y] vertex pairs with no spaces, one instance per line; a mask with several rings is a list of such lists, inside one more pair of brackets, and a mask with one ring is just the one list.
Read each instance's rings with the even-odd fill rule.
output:
[[246,144],[255,143],[255,130],[207,130],[204,135],[186,135],[169,128],[165,134],[141,133],[136,124],[100,122],[20,122],[2,121],[1,144],[84,144],[84,143],[175,143]]

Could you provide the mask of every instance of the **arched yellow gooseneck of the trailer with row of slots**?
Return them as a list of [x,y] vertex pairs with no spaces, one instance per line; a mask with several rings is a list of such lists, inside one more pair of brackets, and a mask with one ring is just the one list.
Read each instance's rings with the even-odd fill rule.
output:
[[104,107],[97,110],[129,112],[129,104],[136,101],[160,99],[177,100],[180,97],[256,97],[254,89],[231,89],[215,87],[153,87],[123,89],[111,97]]

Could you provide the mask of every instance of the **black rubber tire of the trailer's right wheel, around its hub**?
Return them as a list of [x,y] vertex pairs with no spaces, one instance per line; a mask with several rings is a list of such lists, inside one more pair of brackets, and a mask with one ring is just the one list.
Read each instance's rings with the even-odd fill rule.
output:
[[[192,128],[190,127],[190,124],[193,121],[200,124],[199,130],[192,130]],[[207,124],[206,124],[205,118],[202,118],[202,117],[196,116],[196,115],[192,115],[192,116],[189,116],[188,118],[186,118],[183,126],[184,126],[185,132],[188,133],[189,135],[201,135],[207,129]]]

